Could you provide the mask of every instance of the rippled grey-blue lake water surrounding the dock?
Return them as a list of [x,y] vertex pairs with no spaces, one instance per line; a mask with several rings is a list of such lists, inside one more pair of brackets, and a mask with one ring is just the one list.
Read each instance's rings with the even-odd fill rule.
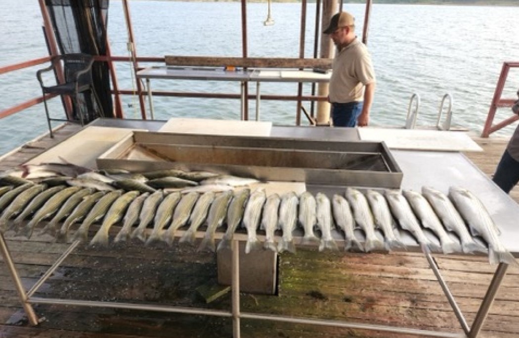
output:
[[[241,56],[240,3],[130,2],[139,56]],[[272,4],[275,24],[265,27],[266,3],[250,3],[250,57],[298,57],[301,5]],[[362,34],[363,4],[345,4],[357,17]],[[315,5],[308,6],[306,57],[312,57]],[[112,1],[108,34],[113,55],[129,55],[121,3]],[[445,93],[454,97],[453,123],[481,133],[503,61],[519,60],[519,7],[373,5],[368,48],[377,76],[371,125],[403,125],[409,99],[421,97],[418,125],[433,125]],[[0,1],[0,67],[48,55],[36,1]],[[145,66],[142,63],[141,66]],[[36,66],[0,75],[0,110],[41,95]],[[117,62],[121,89],[132,89],[132,72]],[[234,82],[153,81],[153,89],[239,93]],[[504,98],[515,98],[519,70],[509,73]],[[255,93],[254,84],[249,87]],[[295,95],[296,84],[263,83],[262,94]],[[305,85],[304,94],[310,93]],[[155,118],[207,117],[239,119],[239,101],[155,97]],[[308,103],[305,103],[308,108]],[[50,101],[54,116],[63,116],[59,99]],[[135,97],[124,97],[125,116],[140,118]],[[249,115],[254,116],[250,101]],[[262,101],[261,119],[295,123],[295,102]],[[499,109],[496,121],[511,114]],[[303,123],[306,123],[304,121]],[[37,105],[0,120],[0,153],[46,131],[45,112]],[[510,135],[510,126],[498,135]]]

